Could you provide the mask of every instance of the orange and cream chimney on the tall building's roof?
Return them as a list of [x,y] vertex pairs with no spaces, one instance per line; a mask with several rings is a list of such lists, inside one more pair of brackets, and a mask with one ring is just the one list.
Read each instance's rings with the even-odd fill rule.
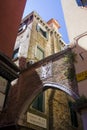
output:
[[60,25],[58,23],[57,20],[55,19],[50,19],[47,24],[49,25],[49,27],[51,27],[52,29],[55,29],[56,31],[58,31],[58,29],[60,28]]

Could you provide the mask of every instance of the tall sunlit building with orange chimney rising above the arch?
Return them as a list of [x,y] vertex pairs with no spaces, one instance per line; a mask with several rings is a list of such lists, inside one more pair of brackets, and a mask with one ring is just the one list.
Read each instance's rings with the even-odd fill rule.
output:
[[59,52],[65,46],[55,19],[47,23],[36,13],[26,16],[19,27],[13,59],[24,57],[29,64]]

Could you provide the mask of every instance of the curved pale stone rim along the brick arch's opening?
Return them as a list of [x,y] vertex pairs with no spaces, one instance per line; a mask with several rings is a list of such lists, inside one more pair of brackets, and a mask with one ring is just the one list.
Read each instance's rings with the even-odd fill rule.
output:
[[29,98],[27,101],[25,101],[22,107],[22,111],[19,115],[18,122],[20,122],[20,119],[24,117],[23,116],[24,113],[27,111],[28,107],[31,105],[32,101],[36,98],[36,96],[38,96],[41,92],[46,91],[49,88],[61,90],[67,93],[68,95],[70,95],[73,99],[79,98],[79,96],[74,91],[72,91],[71,89],[67,88],[64,85],[61,85],[55,82],[45,82],[43,83],[43,86],[40,86],[39,89],[33,93],[33,96],[31,97],[31,99]]

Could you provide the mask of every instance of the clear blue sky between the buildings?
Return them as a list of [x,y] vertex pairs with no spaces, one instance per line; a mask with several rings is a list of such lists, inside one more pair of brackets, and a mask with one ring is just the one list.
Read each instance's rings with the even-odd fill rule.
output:
[[27,0],[23,18],[32,11],[36,11],[45,22],[51,18],[56,19],[61,26],[59,33],[62,35],[62,39],[66,44],[69,43],[61,0]]

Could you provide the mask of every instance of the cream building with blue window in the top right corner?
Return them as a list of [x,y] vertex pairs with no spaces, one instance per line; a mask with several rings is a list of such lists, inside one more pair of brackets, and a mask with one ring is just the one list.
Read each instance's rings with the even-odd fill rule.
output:
[[87,0],[61,0],[70,42],[87,32]]

